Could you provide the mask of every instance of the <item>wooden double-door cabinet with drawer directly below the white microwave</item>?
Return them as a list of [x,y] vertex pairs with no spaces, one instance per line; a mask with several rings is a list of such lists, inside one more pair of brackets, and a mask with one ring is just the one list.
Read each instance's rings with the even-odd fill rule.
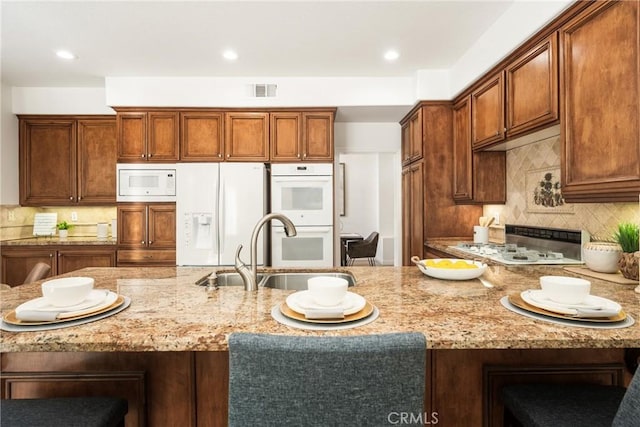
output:
[[117,264],[175,265],[175,203],[118,205]]

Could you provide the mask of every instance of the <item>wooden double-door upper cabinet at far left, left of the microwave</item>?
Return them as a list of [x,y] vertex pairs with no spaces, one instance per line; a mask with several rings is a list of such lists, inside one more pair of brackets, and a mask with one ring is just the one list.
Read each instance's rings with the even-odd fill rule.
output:
[[18,117],[22,206],[115,203],[113,116]]

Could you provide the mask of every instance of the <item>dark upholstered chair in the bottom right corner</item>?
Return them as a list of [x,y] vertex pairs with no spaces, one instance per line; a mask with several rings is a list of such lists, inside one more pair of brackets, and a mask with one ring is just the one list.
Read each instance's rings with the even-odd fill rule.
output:
[[505,425],[638,427],[640,369],[629,388],[595,384],[520,384],[502,389]]

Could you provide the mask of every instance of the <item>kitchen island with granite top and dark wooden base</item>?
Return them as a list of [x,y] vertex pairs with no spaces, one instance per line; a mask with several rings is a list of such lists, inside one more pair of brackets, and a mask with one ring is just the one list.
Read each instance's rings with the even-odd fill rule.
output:
[[[547,274],[573,275],[561,266],[489,266],[480,281],[443,281],[416,267],[352,267],[353,292],[375,305],[374,322],[346,330],[294,329],[271,317],[291,290],[241,286],[207,290],[194,283],[215,268],[87,268],[67,275],[96,279],[96,288],[131,298],[115,316],[66,329],[2,332],[3,398],[78,384],[124,392],[128,425],[225,425],[227,337],[232,332],[359,335],[418,331],[427,337],[425,408],[443,425],[495,425],[502,384],[531,377],[626,383],[625,349],[640,348],[640,325],[579,328],[530,319],[500,299],[538,288]],[[225,269],[221,269],[225,270]],[[227,268],[226,271],[229,271]],[[592,293],[619,302],[640,318],[634,287],[591,279]],[[3,314],[39,296],[38,284],[2,291]],[[627,357],[629,358],[629,357]],[[124,390],[124,391],[123,391]],[[461,404],[460,396],[465,396]]]

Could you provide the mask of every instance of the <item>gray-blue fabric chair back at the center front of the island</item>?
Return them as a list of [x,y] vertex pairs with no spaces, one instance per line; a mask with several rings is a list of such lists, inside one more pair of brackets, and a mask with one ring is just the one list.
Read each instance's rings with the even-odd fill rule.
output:
[[[378,426],[423,419],[420,333],[229,337],[230,426]],[[422,425],[422,424],[420,424]]]

